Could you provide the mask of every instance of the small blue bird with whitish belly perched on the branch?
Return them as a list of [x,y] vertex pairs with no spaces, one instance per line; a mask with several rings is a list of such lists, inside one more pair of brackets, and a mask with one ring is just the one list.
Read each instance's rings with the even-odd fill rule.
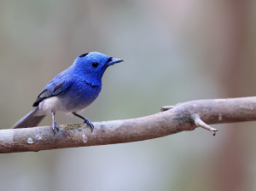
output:
[[52,115],[52,130],[59,130],[55,123],[55,112],[73,113],[84,119],[91,130],[94,129],[90,120],[78,112],[96,100],[102,90],[102,76],[106,69],[123,60],[90,52],[79,55],[71,67],[53,78],[33,103],[36,107],[31,113],[20,119],[12,129],[37,126],[48,114]]

